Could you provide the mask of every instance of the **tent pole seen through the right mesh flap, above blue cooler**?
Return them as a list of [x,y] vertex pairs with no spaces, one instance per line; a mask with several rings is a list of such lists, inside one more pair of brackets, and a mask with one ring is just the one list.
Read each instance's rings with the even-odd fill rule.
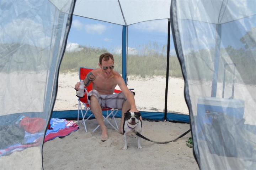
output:
[[216,36],[215,36],[214,74],[213,74],[213,81],[212,81],[211,97],[216,97],[216,94],[217,94],[221,33],[222,33],[222,26],[221,24],[218,24],[216,26]]

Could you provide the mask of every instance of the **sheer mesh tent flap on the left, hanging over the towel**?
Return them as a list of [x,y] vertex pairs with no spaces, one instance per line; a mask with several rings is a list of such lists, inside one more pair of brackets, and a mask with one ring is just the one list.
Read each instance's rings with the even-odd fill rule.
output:
[[[29,115],[45,119],[47,129],[74,6],[75,0],[0,1],[1,125],[19,127],[21,116]],[[26,145],[34,146],[26,157],[22,152],[15,152],[16,161],[13,153],[1,156],[0,169],[20,169],[24,159],[33,162],[26,169],[42,169],[44,134],[37,136],[38,145]]]

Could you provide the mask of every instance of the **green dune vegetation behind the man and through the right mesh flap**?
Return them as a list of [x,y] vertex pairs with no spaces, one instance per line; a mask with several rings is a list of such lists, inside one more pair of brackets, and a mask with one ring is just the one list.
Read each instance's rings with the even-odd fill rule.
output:
[[[65,52],[60,72],[77,72],[79,67],[98,68],[98,57],[107,49],[81,47],[81,51]],[[142,78],[166,76],[166,46],[159,47],[157,43],[136,47],[136,55],[128,53],[127,74]],[[220,49],[218,81],[223,82],[225,63],[235,63],[235,82],[256,84],[255,49],[233,49],[228,46]],[[113,53],[115,70],[122,74],[122,56]],[[201,49],[184,54],[186,71],[189,79],[212,81],[214,74],[215,49]],[[246,67],[246,68],[245,68]],[[233,81],[233,66],[226,68],[226,83]],[[177,56],[170,56],[170,77],[182,77],[180,62]]]

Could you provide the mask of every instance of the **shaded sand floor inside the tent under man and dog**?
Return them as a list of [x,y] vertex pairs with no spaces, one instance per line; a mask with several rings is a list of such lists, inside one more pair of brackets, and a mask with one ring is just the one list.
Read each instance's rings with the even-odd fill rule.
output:
[[[117,119],[118,123],[121,120]],[[190,129],[189,124],[142,121],[142,135],[154,141],[170,141]],[[96,120],[89,120],[87,130],[80,126],[78,131],[63,138],[45,142],[43,145],[44,170],[57,169],[199,169],[192,148],[186,146],[191,134],[176,142],[156,144],[141,139],[143,148],[137,148],[135,138],[128,138],[128,150],[124,146],[123,135],[108,127],[108,140],[100,140],[100,129]]]

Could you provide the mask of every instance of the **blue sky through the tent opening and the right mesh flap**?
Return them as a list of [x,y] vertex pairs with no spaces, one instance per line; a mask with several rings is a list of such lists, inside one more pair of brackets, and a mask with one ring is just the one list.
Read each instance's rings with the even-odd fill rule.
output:
[[[254,25],[248,25],[247,21],[255,19],[255,16],[247,17],[223,24],[222,47],[232,46],[235,49],[244,47],[239,39]],[[151,48],[161,52],[167,44],[167,19],[148,21],[128,26],[128,53],[137,54],[145,48]],[[199,25],[198,25],[199,24]],[[182,21],[180,25],[185,28],[180,32],[183,36],[185,52],[198,49],[206,49],[215,46],[215,24],[202,22]],[[191,34],[190,29],[197,27],[197,33]],[[203,28],[200,30],[200,28]],[[206,29],[207,28],[207,29]],[[230,34],[230,32],[232,34]],[[196,38],[196,36],[199,36]],[[234,40],[235,38],[236,40]],[[171,36],[171,55],[175,55],[174,42]],[[93,19],[73,16],[72,26],[68,37],[68,47],[80,46],[106,48],[109,52],[121,53],[122,26]]]

